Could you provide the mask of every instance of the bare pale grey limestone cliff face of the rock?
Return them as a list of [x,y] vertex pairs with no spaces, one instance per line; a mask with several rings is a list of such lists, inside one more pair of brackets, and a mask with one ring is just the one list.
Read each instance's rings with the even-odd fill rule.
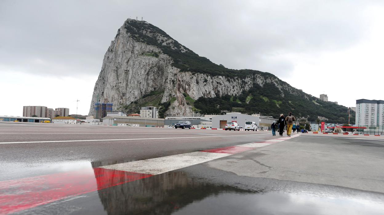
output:
[[[243,90],[250,89],[254,83],[260,86],[274,83],[279,89],[286,88],[292,94],[298,93],[295,88],[272,76],[250,74],[238,78],[180,72],[180,68],[172,65],[174,58],[165,54],[164,49],[150,45],[150,40],[167,45],[170,52],[193,52],[165,33],[138,27],[139,22],[142,21],[128,19],[124,22],[105,53],[101,72],[94,87],[89,115],[94,115],[94,103],[98,101],[113,103],[113,109],[120,110],[153,91],[162,92],[161,103],[172,102],[165,112],[166,116],[200,115],[194,112],[183,93],[187,93],[194,100],[199,97],[239,95]],[[139,34],[130,33],[132,28],[139,29]],[[284,96],[283,91],[281,95]]]

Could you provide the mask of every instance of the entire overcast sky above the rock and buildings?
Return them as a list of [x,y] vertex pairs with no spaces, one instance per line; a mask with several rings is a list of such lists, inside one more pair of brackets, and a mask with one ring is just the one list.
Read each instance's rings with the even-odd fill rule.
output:
[[73,114],[77,99],[87,115],[105,52],[136,17],[225,67],[270,72],[344,106],[384,100],[381,0],[0,0],[0,115],[24,105]]

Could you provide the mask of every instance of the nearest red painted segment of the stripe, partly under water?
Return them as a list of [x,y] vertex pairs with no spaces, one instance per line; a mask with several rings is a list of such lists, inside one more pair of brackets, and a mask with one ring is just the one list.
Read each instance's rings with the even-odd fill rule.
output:
[[149,174],[94,168],[0,182],[0,214],[55,202],[142,178]]

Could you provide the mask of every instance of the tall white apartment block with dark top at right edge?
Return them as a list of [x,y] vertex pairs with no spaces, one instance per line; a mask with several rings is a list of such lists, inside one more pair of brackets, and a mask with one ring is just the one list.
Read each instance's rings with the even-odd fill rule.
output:
[[356,125],[382,127],[384,125],[383,100],[356,100]]

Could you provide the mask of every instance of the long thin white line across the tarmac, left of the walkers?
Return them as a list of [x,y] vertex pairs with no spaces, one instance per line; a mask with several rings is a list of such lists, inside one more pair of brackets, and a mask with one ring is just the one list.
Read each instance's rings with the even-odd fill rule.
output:
[[[265,134],[248,134],[248,135],[225,135],[219,137],[238,137],[238,136],[253,136]],[[12,143],[61,143],[61,142],[94,142],[94,141],[119,141],[119,140],[162,140],[162,139],[186,139],[186,138],[210,138],[218,136],[204,136],[204,137],[159,137],[159,138],[133,138],[133,139],[107,139],[107,140],[52,140],[52,141],[26,141],[26,142],[0,142],[0,144]]]

